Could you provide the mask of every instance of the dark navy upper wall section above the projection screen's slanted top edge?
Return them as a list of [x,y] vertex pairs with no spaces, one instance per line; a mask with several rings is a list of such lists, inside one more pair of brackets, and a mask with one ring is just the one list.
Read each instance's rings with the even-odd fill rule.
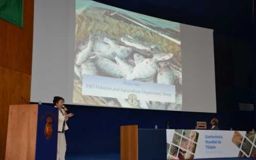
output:
[[252,1],[95,1],[169,21],[211,28],[218,33],[229,36],[243,39],[251,39],[252,37]]

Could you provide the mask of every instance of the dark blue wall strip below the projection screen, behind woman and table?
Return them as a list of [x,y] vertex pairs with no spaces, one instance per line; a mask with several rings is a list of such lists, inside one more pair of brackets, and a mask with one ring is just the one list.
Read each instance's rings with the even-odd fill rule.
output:
[[220,128],[248,130],[253,128],[254,112],[222,111],[214,113],[174,112],[66,105],[74,113],[66,132],[67,154],[119,152],[121,125],[138,124],[139,128],[194,129],[197,121],[209,122],[212,117],[220,120]]

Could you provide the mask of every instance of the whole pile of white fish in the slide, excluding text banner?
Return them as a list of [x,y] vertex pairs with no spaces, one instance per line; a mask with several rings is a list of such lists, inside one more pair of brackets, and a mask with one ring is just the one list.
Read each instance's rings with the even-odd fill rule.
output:
[[[91,74],[181,86],[181,69],[172,64],[172,57],[172,53],[161,53],[154,47],[135,44],[124,38],[116,43],[107,37],[90,35],[89,42],[80,45],[76,53],[75,78],[82,82],[83,74]],[[109,103],[120,107],[181,110],[182,94],[176,94],[176,103],[138,101],[137,106],[130,106],[126,99],[114,98]]]

